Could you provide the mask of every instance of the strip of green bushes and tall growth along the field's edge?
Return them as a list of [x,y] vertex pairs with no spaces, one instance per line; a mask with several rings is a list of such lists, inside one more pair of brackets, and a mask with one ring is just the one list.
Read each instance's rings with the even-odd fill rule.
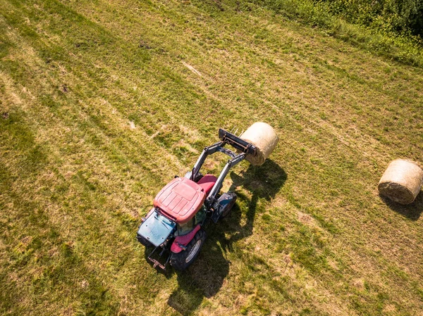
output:
[[333,37],[423,67],[423,0],[249,0]]

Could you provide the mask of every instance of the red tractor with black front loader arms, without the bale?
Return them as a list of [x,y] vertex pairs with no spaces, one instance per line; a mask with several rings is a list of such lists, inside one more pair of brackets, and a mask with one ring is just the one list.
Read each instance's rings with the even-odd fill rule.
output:
[[[223,179],[234,165],[246,157],[257,156],[259,148],[224,129],[219,129],[219,139],[221,141],[204,148],[194,168],[185,177],[175,177],[161,189],[154,198],[154,207],[142,218],[137,240],[146,247],[154,248],[148,256],[154,267],[166,269],[170,263],[176,270],[185,270],[197,258],[204,244],[204,225],[210,220],[218,222],[233,208],[236,194],[220,194]],[[233,146],[237,153],[225,148],[227,144]],[[221,174],[219,177],[202,175],[200,169],[204,160],[216,152],[230,157]],[[168,254],[163,264],[152,258],[156,251],[159,251],[160,257]]]

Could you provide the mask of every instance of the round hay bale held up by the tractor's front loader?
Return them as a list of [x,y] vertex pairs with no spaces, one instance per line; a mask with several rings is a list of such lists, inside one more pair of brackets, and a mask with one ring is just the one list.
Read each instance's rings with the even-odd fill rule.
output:
[[247,155],[245,157],[252,165],[262,165],[279,141],[274,129],[264,122],[255,122],[243,132],[240,138],[257,147],[255,156]]

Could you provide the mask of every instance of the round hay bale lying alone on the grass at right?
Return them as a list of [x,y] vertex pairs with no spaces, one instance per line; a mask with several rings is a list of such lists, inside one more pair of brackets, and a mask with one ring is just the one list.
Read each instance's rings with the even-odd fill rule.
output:
[[423,170],[411,160],[393,160],[379,181],[379,193],[401,204],[415,200],[423,184]]

